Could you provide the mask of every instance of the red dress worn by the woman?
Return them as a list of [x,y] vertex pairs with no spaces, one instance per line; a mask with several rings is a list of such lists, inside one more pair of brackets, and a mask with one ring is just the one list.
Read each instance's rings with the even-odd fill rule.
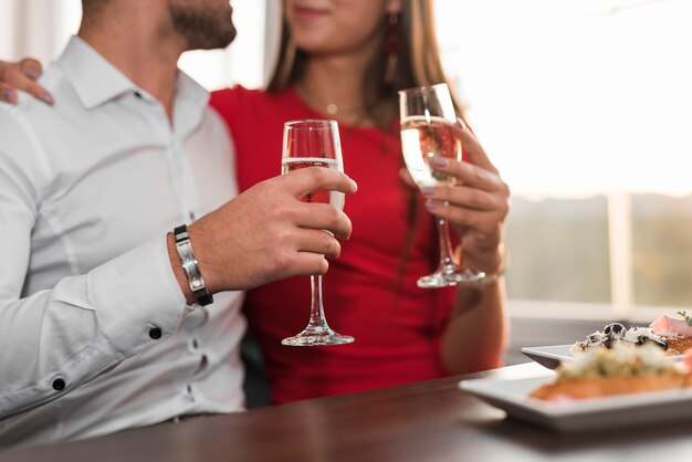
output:
[[[212,94],[211,105],[229,126],[241,191],[281,174],[286,120],[325,118],[293,90],[242,87]],[[323,280],[329,326],[355,343],[290,347],[281,339],[307,324],[308,277],[293,277],[248,292],[244,311],[265,358],[274,402],[315,398],[437,378],[445,375],[440,337],[453,306],[453,288],[422,290],[419,276],[436,267],[434,222],[420,193],[413,241],[399,270],[409,229],[411,190],[398,176],[403,166],[398,132],[340,127],[344,167],[358,182],[346,197],[353,235]],[[232,262],[230,263],[232,264]]]

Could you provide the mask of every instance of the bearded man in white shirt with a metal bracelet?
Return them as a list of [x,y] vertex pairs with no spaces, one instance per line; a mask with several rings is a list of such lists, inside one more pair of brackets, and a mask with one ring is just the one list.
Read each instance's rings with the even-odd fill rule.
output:
[[231,291],[322,274],[339,252],[322,230],[349,234],[343,212],[300,201],[355,191],[331,169],[226,202],[232,146],[176,63],[230,43],[231,11],[83,0],[78,36],[41,80],[55,105],[0,104],[0,447],[241,410]]

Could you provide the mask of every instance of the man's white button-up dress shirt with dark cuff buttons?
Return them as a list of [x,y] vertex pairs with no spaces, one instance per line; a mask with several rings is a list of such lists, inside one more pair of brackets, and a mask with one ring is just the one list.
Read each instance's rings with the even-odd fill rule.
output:
[[207,92],[179,72],[171,126],[78,38],[41,84],[0,104],[0,447],[241,410],[242,293],[184,317],[166,248],[237,193]]

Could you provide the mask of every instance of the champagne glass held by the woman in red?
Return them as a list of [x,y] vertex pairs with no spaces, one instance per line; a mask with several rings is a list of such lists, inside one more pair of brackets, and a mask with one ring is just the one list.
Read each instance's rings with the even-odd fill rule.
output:
[[[454,177],[434,171],[430,166],[438,156],[461,161],[461,140],[454,136],[452,127],[457,122],[457,113],[447,84],[400,91],[399,109],[403,160],[416,185],[419,188],[453,186],[457,181]],[[418,280],[418,286],[481,284],[485,273],[463,267],[454,258],[447,220],[436,218],[436,225],[440,263],[432,274]]]

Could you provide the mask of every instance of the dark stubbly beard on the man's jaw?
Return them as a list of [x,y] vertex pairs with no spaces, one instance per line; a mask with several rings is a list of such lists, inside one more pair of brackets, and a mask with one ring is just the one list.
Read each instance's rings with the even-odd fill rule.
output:
[[224,49],[235,38],[231,7],[213,11],[209,8],[171,4],[170,14],[174,28],[187,40],[188,50]]

